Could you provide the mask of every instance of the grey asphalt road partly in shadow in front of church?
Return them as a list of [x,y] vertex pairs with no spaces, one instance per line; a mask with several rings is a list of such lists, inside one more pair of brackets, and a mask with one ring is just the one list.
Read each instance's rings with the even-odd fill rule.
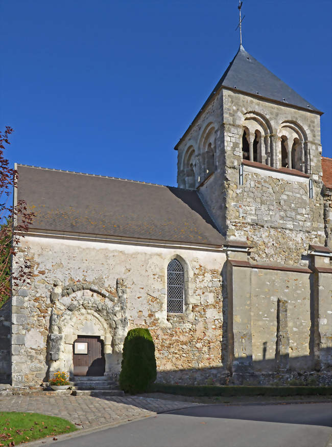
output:
[[59,447],[325,447],[331,404],[211,405],[158,414]]

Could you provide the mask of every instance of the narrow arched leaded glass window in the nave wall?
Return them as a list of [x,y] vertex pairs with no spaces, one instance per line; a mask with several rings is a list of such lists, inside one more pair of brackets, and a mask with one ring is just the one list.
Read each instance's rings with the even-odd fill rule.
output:
[[183,267],[177,259],[172,259],[167,267],[167,311],[183,312],[184,275]]

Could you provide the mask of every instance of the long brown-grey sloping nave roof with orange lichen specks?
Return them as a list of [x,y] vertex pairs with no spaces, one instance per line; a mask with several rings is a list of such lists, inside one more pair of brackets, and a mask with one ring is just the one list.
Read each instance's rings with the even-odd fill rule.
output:
[[18,165],[30,230],[222,245],[197,191]]

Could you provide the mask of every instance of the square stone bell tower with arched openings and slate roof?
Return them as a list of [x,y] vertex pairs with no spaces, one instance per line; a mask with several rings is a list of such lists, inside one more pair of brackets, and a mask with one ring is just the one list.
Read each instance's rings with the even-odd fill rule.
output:
[[178,186],[254,260],[298,264],[324,245],[321,115],[241,44],[175,147]]

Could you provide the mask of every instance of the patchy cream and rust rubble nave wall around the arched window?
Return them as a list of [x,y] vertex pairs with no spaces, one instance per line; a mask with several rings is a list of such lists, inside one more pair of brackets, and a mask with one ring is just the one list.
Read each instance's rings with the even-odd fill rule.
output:
[[[41,383],[50,372],[50,360],[54,367],[70,368],[73,337],[89,335],[80,331],[114,337],[111,321],[117,326],[123,318],[121,312],[111,310],[112,297],[116,304],[119,296],[118,278],[126,282],[126,327],[151,330],[160,380],[172,381],[173,371],[181,370],[185,381],[188,370],[197,368],[204,383],[210,375],[205,369],[220,367],[220,272],[225,254],[25,237],[15,262],[23,257],[29,258],[33,280],[30,286],[14,290],[15,312],[19,311],[15,317],[13,314],[12,324],[14,386]],[[167,314],[167,265],[173,257],[182,262],[185,271],[182,315]],[[59,324],[64,315],[67,325]],[[95,322],[93,327],[91,322]],[[112,357],[113,342],[106,341],[106,345],[106,353]],[[117,352],[120,349],[118,346]],[[117,372],[118,357],[113,364],[110,359],[109,365],[108,373]]]

